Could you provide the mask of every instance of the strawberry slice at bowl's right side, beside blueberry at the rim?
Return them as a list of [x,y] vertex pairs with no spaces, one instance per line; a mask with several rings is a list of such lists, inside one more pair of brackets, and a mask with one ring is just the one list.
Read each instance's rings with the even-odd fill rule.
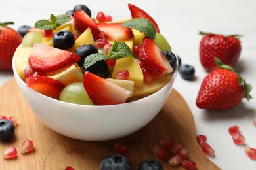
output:
[[173,72],[169,61],[163,56],[154,40],[144,37],[140,46],[139,58],[144,69],[154,76],[163,76]]

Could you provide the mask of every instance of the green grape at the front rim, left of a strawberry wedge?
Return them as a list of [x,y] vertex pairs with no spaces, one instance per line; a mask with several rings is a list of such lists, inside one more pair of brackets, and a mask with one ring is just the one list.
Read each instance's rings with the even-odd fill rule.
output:
[[60,101],[75,103],[80,105],[93,105],[82,82],[68,84],[60,93]]

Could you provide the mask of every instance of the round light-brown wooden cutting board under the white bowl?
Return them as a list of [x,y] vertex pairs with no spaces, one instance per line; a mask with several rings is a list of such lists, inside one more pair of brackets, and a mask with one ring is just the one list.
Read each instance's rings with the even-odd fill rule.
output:
[[[181,141],[189,150],[189,160],[196,161],[198,169],[219,169],[198,146],[194,118],[176,90],[171,92],[163,109],[147,126],[127,137],[112,141],[79,141],[64,137],[44,126],[24,101],[14,79],[0,87],[0,115],[18,118],[15,137],[11,141],[0,143],[0,152],[15,146],[18,156],[10,160],[0,156],[0,169],[64,170],[67,166],[76,170],[99,169],[100,161],[114,153],[115,143],[127,145],[129,150],[126,156],[133,169],[137,169],[142,160],[154,158],[152,148],[158,146],[158,141],[163,138]],[[26,139],[33,141],[35,150],[29,154],[21,154],[20,146]],[[161,163],[164,169],[183,169],[170,167],[167,161]]]

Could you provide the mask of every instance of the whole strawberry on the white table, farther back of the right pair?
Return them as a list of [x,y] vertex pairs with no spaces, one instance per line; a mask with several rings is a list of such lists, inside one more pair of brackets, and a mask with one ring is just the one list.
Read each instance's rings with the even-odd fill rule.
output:
[[241,53],[240,35],[217,35],[203,33],[200,41],[200,61],[206,71],[210,72],[217,67],[214,57],[219,58],[224,64],[234,67]]

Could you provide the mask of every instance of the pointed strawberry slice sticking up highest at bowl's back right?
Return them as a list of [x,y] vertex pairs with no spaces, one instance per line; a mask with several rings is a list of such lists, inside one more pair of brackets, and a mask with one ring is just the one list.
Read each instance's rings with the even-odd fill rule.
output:
[[136,7],[135,5],[132,5],[132,4],[128,4],[128,7],[130,9],[132,18],[148,19],[154,25],[156,32],[157,33],[160,32],[160,30],[158,28],[158,24],[156,24],[155,20],[149,14],[147,14],[144,10],[142,10],[139,7]]

